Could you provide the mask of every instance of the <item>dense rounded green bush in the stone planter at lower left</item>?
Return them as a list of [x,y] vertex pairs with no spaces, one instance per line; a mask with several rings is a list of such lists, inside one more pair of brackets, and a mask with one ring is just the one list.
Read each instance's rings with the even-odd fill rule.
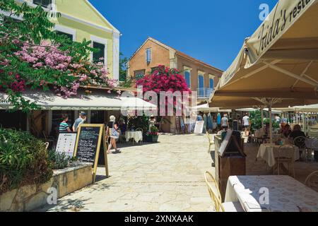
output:
[[28,132],[0,129],[0,195],[51,179],[52,162],[45,144]]

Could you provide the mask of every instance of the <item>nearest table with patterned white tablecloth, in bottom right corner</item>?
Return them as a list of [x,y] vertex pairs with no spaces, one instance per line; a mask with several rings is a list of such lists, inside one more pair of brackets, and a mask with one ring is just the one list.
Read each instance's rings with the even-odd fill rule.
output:
[[318,193],[289,176],[229,177],[225,202],[237,201],[246,212],[318,211]]

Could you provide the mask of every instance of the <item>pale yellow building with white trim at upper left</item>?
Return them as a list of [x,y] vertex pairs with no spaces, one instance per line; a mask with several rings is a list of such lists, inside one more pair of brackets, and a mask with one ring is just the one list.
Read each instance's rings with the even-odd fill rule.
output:
[[[88,0],[16,0],[30,6],[42,6],[49,12],[54,30],[67,35],[73,41],[91,40],[92,47],[100,52],[92,53],[91,59],[105,59],[110,77],[119,80],[120,32]],[[57,12],[61,14],[57,17]],[[1,12],[4,13],[4,12]],[[5,13],[4,13],[5,14]],[[19,18],[16,18],[19,19]]]

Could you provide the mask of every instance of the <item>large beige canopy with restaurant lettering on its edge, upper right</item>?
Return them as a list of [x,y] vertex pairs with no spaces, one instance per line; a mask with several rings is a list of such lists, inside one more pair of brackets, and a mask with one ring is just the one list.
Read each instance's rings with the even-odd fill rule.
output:
[[318,103],[317,2],[278,1],[223,73],[210,107],[251,107],[255,97],[286,99],[276,107]]

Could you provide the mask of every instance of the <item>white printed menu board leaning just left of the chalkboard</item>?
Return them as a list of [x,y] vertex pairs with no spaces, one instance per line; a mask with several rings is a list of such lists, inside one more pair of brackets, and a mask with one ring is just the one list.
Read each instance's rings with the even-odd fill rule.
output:
[[57,153],[64,153],[68,157],[73,157],[76,145],[77,133],[59,133],[57,140]]

